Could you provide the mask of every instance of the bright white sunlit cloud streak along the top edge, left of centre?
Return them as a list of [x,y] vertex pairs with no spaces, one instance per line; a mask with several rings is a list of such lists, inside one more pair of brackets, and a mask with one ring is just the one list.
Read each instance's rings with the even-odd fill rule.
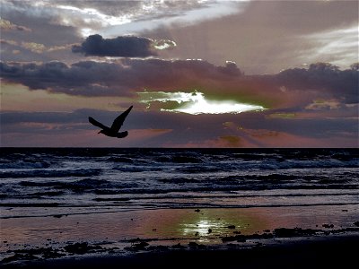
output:
[[[33,17],[51,18],[63,26],[75,26],[82,36],[109,30],[115,34],[133,34],[136,31],[161,24],[193,23],[194,19],[210,20],[238,8],[231,2],[206,1],[23,1],[3,0],[5,13],[28,13]],[[177,21],[176,21],[177,20]],[[124,26],[123,28],[121,26]],[[114,28],[114,29],[111,29]]]

